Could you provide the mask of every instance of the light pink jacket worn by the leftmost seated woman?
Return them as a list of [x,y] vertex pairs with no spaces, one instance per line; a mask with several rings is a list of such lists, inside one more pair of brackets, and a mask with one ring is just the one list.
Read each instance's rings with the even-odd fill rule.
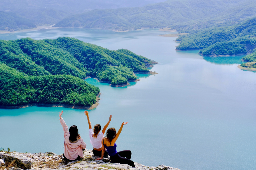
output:
[[66,123],[64,122],[64,120],[61,118],[60,119],[60,124],[63,128],[64,131],[64,155],[66,158],[70,159],[70,160],[75,160],[78,155],[83,158],[83,150],[86,148],[86,143],[84,142],[84,140],[82,138],[80,138],[76,143],[71,143],[69,141],[69,136],[70,133],[68,131],[68,126],[66,125]]

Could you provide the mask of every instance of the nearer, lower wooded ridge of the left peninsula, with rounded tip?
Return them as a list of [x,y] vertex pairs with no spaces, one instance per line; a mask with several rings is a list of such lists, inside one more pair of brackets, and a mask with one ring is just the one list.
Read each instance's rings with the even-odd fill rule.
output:
[[69,75],[28,76],[0,62],[0,106],[31,103],[91,106],[99,88]]

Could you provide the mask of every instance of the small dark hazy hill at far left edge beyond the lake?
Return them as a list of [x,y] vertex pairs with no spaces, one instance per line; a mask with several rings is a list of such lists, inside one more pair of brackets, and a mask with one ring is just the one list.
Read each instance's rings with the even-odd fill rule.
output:
[[30,29],[36,25],[15,13],[0,11],[0,30]]

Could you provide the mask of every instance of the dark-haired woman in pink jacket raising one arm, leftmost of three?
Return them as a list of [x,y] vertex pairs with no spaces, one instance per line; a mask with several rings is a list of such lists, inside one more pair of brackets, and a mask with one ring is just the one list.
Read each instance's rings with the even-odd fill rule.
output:
[[69,130],[68,126],[61,118],[63,111],[60,113],[60,124],[64,131],[64,153],[63,157],[65,160],[73,161],[83,158],[83,149],[86,148],[86,143],[78,134],[77,126],[72,125]]

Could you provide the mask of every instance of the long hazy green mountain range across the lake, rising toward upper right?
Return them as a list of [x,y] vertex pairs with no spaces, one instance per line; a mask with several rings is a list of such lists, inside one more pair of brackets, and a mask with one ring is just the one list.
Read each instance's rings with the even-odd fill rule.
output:
[[144,7],[92,10],[67,17],[55,26],[111,30],[169,26],[183,30],[230,26],[253,16],[256,3],[249,0],[167,0]]

